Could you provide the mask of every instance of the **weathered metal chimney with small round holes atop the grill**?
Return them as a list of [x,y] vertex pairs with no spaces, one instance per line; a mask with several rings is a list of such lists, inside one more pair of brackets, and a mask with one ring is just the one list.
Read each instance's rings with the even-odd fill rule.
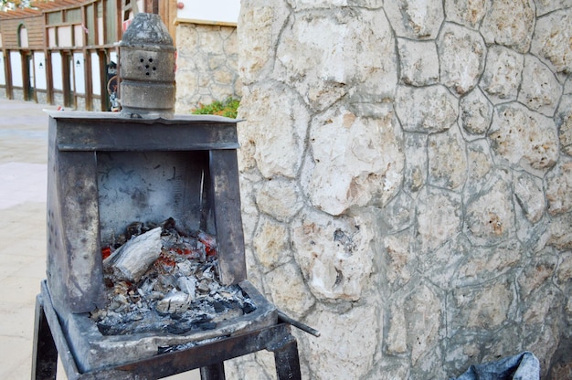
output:
[[138,13],[123,34],[119,48],[121,115],[173,118],[175,47],[161,17]]

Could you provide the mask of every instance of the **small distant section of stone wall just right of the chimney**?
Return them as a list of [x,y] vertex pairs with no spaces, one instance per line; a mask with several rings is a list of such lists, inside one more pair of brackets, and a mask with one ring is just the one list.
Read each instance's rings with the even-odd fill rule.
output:
[[181,23],[176,26],[176,45],[176,113],[240,98],[236,26]]

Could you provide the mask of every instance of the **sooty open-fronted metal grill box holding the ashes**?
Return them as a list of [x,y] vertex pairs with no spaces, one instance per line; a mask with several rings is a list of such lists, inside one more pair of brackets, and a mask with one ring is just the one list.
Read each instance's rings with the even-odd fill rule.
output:
[[[159,346],[276,323],[275,307],[246,276],[236,123],[216,116],[50,114],[48,290],[82,371],[139,360]],[[238,284],[256,311],[208,332],[103,336],[88,314],[104,301],[101,248],[134,220],[170,216],[183,229],[217,237],[221,282]]]

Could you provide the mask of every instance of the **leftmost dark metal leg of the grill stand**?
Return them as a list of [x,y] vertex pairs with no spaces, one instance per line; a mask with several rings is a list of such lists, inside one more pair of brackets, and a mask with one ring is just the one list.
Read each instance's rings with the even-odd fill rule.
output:
[[58,349],[44,313],[41,295],[36,298],[32,380],[55,380],[58,370]]

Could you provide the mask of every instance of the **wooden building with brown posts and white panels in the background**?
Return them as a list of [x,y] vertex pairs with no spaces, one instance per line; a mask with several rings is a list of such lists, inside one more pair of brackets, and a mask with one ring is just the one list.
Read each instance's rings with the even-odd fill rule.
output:
[[0,12],[0,97],[110,111],[117,43],[137,12],[159,13],[175,38],[175,0],[51,0]]

